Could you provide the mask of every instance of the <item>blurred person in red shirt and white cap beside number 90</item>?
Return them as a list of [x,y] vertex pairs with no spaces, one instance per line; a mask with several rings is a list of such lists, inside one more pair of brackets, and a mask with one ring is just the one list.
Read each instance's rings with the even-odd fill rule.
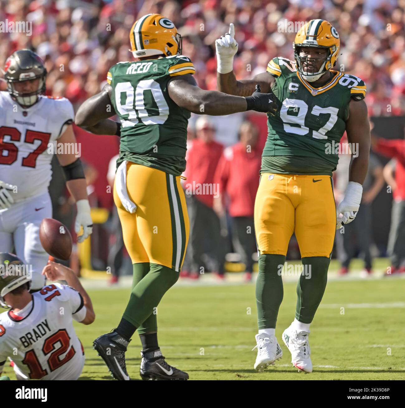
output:
[[197,138],[188,152],[184,173],[187,178],[183,187],[190,219],[190,238],[184,268],[186,272],[181,276],[198,278],[204,272],[202,256],[209,253],[212,255],[210,269],[222,279],[225,244],[221,236],[221,222],[212,204],[219,194],[214,175],[224,146],[215,142],[215,126],[208,116],[199,117],[195,126]]

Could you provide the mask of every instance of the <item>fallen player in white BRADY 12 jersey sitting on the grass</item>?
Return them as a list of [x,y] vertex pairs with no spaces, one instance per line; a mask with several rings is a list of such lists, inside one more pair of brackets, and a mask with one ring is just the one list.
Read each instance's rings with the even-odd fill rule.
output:
[[48,264],[44,273],[49,279],[64,279],[72,287],[55,283],[31,294],[29,265],[0,253],[0,270],[0,304],[10,308],[0,314],[0,374],[10,358],[18,380],[76,380],[84,350],[73,320],[90,324],[94,312],[73,271]]

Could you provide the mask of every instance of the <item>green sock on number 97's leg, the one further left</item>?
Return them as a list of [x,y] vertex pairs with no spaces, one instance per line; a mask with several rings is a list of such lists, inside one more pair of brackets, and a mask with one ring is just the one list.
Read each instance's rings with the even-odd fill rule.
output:
[[257,323],[259,329],[276,328],[277,315],[283,300],[283,279],[279,274],[285,255],[259,256],[256,281]]

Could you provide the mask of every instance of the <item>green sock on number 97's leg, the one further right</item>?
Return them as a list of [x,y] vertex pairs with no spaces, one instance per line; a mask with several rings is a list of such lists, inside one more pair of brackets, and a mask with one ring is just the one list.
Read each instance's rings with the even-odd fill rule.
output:
[[328,281],[330,258],[317,256],[302,258],[304,266],[297,284],[295,318],[301,323],[311,323],[321,303]]

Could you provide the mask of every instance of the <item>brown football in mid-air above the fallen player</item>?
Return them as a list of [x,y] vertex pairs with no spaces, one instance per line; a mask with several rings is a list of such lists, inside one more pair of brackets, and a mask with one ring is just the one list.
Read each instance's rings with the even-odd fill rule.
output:
[[67,261],[72,253],[69,229],[53,218],[44,218],[40,225],[40,241],[49,255]]

